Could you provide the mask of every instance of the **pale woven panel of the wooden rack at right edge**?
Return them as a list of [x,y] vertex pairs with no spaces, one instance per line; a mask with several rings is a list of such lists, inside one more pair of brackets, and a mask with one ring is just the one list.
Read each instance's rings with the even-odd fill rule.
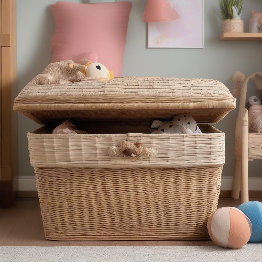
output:
[[248,134],[248,160],[262,159],[262,133]]

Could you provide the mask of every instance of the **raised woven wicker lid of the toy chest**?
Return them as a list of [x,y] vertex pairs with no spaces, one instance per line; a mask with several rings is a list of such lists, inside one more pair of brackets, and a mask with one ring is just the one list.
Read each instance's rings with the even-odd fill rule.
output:
[[217,80],[116,77],[70,84],[24,87],[14,110],[43,124],[63,119],[170,119],[191,114],[197,122],[217,123],[236,99]]

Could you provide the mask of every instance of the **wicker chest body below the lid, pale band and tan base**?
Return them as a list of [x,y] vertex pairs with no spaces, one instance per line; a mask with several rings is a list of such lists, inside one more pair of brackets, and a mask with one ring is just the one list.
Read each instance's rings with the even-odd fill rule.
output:
[[[29,133],[46,238],[207,239],[225,135],[200,128],[203,134]],[[123,140],[140,140],[158,154],[109,156],[108,148]]]

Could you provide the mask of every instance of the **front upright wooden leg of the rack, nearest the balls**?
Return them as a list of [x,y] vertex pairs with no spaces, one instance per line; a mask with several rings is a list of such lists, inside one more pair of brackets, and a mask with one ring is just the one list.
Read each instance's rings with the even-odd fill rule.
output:
[[241,203],[248,202],[248,110],[241,110]]

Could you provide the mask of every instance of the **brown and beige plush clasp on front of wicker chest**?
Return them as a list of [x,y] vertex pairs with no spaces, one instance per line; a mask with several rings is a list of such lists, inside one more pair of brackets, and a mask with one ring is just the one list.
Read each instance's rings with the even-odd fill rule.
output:
[[128,141],[123,141],[119,146],[112,146],[108,149],[110,156],[123,156],[123,157],[134,157],[134,158],[147,158],[153,157],[157,154],[157,151],[152,148],[145,148],[143,144],[138,141],[133,144]]

